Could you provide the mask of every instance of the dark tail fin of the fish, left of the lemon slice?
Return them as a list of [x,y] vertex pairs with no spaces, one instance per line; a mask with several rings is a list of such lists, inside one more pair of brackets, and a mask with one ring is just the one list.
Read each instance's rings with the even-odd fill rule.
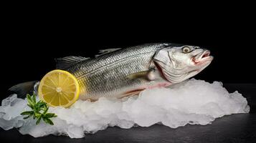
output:
[[9,88],[9,92],[17,94],[17,97],[24,99],[27,94],[32,94],[34,90],[37,92],[38,81],[24,82],[21,84],[16,84]]

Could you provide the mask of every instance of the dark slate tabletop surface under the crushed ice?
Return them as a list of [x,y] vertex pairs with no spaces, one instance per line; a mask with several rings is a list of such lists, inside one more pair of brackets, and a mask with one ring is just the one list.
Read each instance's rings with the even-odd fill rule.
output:
[[186,125],[171,129],[162,125],[120,129],[109,127],[82,139],[47,136],[34,138],[16,129],[0,129],[1,142],[256,142],[256,84],[224,84],[229,92],[238,90],[247,98],[250,114],[232,114],[216,119],[212,124]]

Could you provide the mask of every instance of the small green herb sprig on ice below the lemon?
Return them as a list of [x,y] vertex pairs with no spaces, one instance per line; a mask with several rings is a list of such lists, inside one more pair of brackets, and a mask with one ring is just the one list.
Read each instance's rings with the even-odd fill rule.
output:
[[43,120],[45,123],[53,125],[53,122],[50,118],[57,117],[57,115],[54,113],[47,113],[49,109],[47,103],[43,102],[42,100],[37,102],[36,94],[33,94],[32,96],[27,94],[27,102],[27,106],[29,106],[32,111],[22,112],[21,114],[26,116],[23,119],[33,117],[33,119],[37,119],[36,124],[39,124],[39,122]]

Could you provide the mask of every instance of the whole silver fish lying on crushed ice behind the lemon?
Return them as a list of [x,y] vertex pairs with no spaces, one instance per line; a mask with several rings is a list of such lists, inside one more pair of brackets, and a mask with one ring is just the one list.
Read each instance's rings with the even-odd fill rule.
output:
[[[76,77],[79,98],[95,101],[100,97],[129,97],[145,89],[183,82],[209,66],[212,60],[210,51],[199,46],[156,43],[105,49],[93,58],[66,56],[56,62],[57,69]],[[24,92],[21,87],[29,88],[27,84],[18,84],[10,90]]]

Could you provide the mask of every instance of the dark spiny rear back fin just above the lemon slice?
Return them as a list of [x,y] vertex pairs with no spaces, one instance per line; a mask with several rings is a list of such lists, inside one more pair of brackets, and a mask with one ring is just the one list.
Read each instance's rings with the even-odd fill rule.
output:
[[57,69],[67,69],[68,67],[72,66],[73,64],[77,64],[80,61],[85,61],[90,58],[85,58],[82,56],[66,56],[63,58],[57,58],[55,59],[57,65]]

